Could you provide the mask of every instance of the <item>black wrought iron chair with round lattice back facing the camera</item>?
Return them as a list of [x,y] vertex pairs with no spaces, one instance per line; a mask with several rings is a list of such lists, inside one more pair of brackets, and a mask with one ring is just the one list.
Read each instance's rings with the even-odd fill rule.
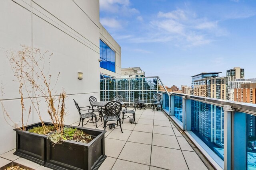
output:
[[[117,126],[118,126],[118,121],[119,121],[120,129],[122,131],[121,118],[120,118],[121,109],[122,109],[122,105],[118,101],[111,101],[105,105],[105,114],[106,115],[103,116],[104,130],[106,130],[106,125],[107,125],[108,121],[117,121]],[[123,131],[122,131],[122,133],[123,133]]]

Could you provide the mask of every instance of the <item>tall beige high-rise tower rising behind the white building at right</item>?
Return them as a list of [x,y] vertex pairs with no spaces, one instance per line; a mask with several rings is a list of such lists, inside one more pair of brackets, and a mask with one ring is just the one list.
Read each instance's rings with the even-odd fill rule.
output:
[[228,78],[227,100],[234,101],[234,88],[232,88],[232,82],[244,78],[244,68],[234,67],[233,69],[227,70],[226,76]]

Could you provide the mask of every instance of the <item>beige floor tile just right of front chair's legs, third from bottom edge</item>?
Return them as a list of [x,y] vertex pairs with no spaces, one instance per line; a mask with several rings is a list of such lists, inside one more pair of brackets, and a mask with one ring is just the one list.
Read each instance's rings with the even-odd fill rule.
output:
[[152,133],[132,131],[128,141],[151,145]]

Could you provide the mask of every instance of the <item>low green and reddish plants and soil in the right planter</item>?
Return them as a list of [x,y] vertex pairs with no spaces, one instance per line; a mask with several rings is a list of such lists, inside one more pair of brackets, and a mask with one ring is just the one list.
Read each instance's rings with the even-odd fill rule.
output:
[[62,139],[80,143],[90,143],[94,138],[82,130],[69,127],[64,128]]

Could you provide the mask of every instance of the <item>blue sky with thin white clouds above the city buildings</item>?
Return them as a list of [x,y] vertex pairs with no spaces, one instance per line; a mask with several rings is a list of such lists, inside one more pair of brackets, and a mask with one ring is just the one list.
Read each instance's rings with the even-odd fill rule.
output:
[[100,0],[100,23],[122,48],[122,68],[164,85],[236,66],[256,78],[255,0]]

